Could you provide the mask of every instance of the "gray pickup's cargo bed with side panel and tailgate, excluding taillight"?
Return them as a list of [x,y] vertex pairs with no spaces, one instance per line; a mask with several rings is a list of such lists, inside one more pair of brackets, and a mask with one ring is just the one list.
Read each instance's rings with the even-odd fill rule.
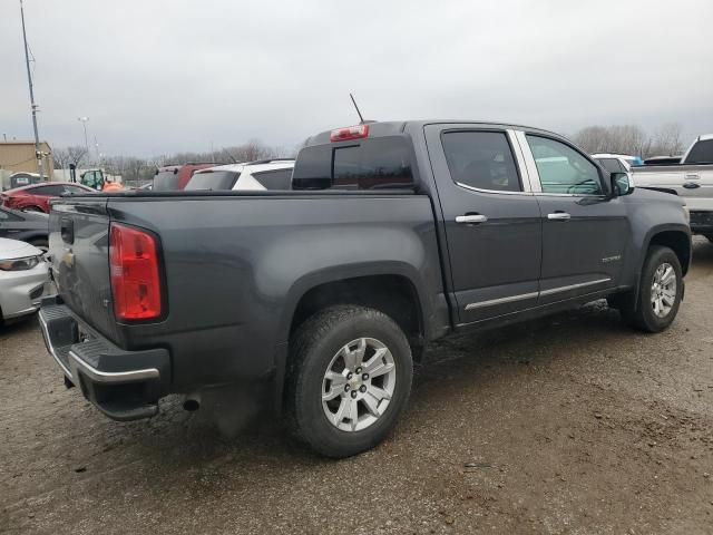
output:
[[[436,302],[445,298],[426,195],[131,192],[62,198],[52,208],[49,243],[60,298],[80,328],[86,323],[120,349],[155,348],[160,340],[172,356],[173,390],[268,376],[280,352],[274,342],[286,347],[301,286],[315,281],[401,273],[448,321]],[[116,321],[110,223],[157,237],[165,300],[157,321]]]

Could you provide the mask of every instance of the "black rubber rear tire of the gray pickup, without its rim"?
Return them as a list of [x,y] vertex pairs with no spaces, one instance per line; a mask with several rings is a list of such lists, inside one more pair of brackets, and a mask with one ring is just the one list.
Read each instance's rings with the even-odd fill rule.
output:
[[[323,410],[324,373],[340,349],[360,338],[377,339],[391,352],[395,367],[394,391],[385,411],[373,424],[345,431],[329,421]],[[391,318],[355,305],[331,307],[318,312],[291,340],[285,391],[285,415],[291,431],[326,457],[350,457],[371,449],[389,435],[403,412],[412,377],[409,342]]]

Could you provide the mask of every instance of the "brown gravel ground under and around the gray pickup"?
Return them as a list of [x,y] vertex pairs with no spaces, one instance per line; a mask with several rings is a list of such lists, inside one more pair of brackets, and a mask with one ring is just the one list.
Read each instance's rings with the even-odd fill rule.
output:
[[597,302],[434,346],[391,438],[341,461],[176,399],[110,421],[35,322],[0,329],[0,532],[713,533],[707,242],[686,281],[662,334]]

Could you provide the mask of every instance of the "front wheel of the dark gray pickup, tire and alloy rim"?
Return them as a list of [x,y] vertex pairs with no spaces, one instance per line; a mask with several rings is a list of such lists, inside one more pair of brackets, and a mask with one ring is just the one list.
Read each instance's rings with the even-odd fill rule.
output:
[[671,325],[678,313],[683,296],[683,274],[678,256],[671,249],[654,245],[648,250],[638,290],[635,311],[621,309],[633,327],[661,332]]

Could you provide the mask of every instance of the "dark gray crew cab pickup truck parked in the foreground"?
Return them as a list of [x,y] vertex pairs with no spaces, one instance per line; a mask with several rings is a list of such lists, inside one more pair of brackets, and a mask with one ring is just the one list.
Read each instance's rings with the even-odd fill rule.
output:
[[556,134],[446,120],[319,134],[289,192],[62,198],[50,231],[40,323],[68,386],[129,420],[264,385],[332,457],[383,439],[429,341],[600,298],[662,331],[691,262],[680,198]]

